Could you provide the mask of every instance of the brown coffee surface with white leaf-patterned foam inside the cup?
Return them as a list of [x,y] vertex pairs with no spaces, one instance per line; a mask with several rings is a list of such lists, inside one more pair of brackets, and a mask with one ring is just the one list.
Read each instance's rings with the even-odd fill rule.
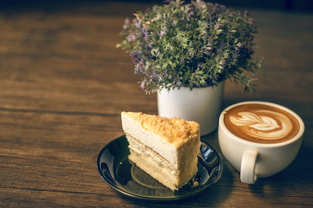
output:
[[287,141],[299,131],[291,114],[262,104],[236,106],[225,113],[224,122],[234,135],[258,143]]

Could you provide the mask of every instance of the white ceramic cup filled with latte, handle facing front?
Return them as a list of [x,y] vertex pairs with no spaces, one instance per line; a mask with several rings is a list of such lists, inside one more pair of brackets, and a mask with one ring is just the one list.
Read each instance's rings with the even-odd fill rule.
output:
[[[271,110],[257,110],[260,107],[259,104],[265,108],[275,108],[272,110],[273,116],[271,116]],[[249,112],[250,109],[254,110]],[[240,113],[240,111],[242,112]],[[264,112],[266,113],[262,115]],[[286,115],[284,112],[287,112]],[[279,138],[278,134],[280,136],[286,135],[287,126],[290,126],[289,121],[285,119],[287,114],[294,117],[298,125],[296,123],[291,125],[293,130],[290,130],[290,134],[288,133],[291,139],[275,143],[274,140]],[[225,125],[225,118],[231,131]],[[279,120],[280,118],[281,120]],[[274,124],[275,120],[278,121],[278,124]],[[270,131],[267,131],[268,126]],[[244,130],[239,130],[240,128]],[[245,136],[236,131],[245,132],[245,136],[248,135],[249,138],[242,139]],[[264,132],[271,132],[268,133],[270,136],[266,136],[267,133]],[[273,176],[289,166],[298,154],[303,133],[304,123],[296,113],[281,105],[263,101],[246,101],[233,104],[222,111],[218,123],[218,143],[221,152],[234,169],[240,172],[241,182],[246,184],[254,184],[257,178]],[[264,135],[264,138],[259,140],[261,142],[254,141],[259,135]],[[253,141],[248,141],[250,138],[253,138],[251,139]],[[275,141],[279,141],[279,139]]]

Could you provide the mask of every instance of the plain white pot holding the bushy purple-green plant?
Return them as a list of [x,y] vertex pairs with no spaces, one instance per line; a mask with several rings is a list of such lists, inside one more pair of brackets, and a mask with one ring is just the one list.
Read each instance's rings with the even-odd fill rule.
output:
[[225,82],[217,87],[162,90],[157,93],[158,115],[179,117],[200,124],[201,135],[216,129]]

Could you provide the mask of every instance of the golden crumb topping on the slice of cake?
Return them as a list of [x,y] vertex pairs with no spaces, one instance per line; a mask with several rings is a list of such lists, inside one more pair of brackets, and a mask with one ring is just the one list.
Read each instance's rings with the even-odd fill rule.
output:
[[184,140],[196,139],[200,135],[200,126],[194,121],[148,115],[141,112],[123,113],[138,122],[143,129],[164,138],[169,143],[183,143]]

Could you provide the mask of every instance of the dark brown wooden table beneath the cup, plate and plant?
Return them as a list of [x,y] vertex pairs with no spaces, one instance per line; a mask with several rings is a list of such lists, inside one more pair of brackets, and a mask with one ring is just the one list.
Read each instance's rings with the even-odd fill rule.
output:
[[[19,3],[0,6],[0,207],[160,207],[121,196],[96,168],[102,147],[123,134],[121,111],[157,114],[156,95],[141,91],[130,57],[115,48],[124,19],[147,5]],[[263,100],[292,109],[306,128],[300,152],[282,172],[246,185],[215,131],[202,140],[222,158],[220,180],[168,207],[313,206],[313,15],[249,11],[266,76],[254,94],[227,81],[222,107]]]

